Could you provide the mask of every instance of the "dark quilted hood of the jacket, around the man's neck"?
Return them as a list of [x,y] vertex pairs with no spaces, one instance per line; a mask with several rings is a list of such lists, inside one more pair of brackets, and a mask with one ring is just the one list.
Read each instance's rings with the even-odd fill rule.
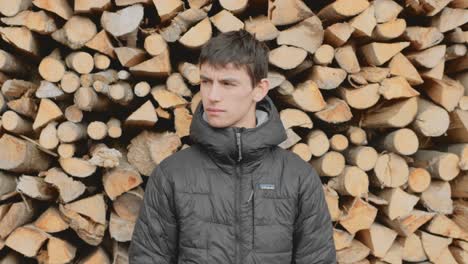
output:
[[[268,95],[257,103],[255,112],[257,124],[254,128],[216,128],[206,121],[203,103],[200,102],[190,125],[190,138],[224,169],[229,170],[239,157],[244,166],[256,167],[272,147],[287,139],[287,135],[278,110]],[[240,148],[236,131],[240,132]]]

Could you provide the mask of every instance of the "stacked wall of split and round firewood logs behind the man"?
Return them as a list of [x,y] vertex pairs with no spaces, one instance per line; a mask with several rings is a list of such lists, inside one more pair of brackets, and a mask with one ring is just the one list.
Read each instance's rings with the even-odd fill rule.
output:
[[128,263],[147,176],[191,144],[200,47],[271,49],[281,147],[339,263],[468,263],[467,0],[0,1],[0,263]]

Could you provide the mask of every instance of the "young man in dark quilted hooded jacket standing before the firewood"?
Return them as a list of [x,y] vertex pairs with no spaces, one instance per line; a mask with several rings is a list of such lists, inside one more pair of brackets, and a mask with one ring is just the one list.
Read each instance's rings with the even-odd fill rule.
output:
[[194,144],[150,176],[130,263],[336,263],[317,173],[277,146],[287,137],[267,96],[268,48],[224,33],[200,65]]

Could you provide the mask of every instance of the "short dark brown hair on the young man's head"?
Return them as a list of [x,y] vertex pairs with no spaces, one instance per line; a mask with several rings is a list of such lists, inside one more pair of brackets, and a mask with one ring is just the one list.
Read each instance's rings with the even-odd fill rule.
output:
[[210,39],[202,48],[199,64],[208,63],[213,67],[225,67],[232,63],[244,68],[255,87],[268,75],[268,46],[258,41],[244,29],[221,33]]

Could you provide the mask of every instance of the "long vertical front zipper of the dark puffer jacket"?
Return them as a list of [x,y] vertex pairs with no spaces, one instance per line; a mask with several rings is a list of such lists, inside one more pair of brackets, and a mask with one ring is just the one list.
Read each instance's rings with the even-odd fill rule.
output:
[[242,161],[242,141],[241,141],[241,132],[242,128],[234,128],[235,135],[236,135],[236,146],[237,146],[237,161],[235,165],[235,171],[236,171],[236,188],[235,188],[235,199],[234,199],[234,208],[235,208],[235,237],[236,237],[236,245],[235,245],[235,262],[236,264],[240,263],[241,259],[239,258],[239,243],[240,243],[240,231],[239,231],[239,224],[240,224],[240,210],[239,210],[239,203],[241,200],[241,180],[242,180],[242,172],[241,172],[241,161]]

